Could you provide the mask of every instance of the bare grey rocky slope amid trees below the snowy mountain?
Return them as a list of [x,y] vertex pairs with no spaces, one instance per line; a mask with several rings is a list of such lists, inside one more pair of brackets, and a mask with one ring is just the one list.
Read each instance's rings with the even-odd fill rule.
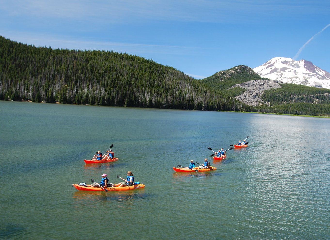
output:
[[235,98],[245,104],[250,106],[259,106],[262,104],[266,104],[269,106],[269,103],[261,100],[261,95],[265,90],[272,88],[280,88],[282,83],[281,81],[271,81],[271,80],[251,80],[246,83],[236,84],[233,87],[241,87],[243,89],[247,89],[241,95],[236,96]]

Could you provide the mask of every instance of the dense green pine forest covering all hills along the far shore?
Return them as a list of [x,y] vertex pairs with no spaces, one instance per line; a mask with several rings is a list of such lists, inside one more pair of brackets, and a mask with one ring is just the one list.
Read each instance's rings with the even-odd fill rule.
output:
[[229,87],[263,79],[241,65],[203,80],[150,59],[114,51],[51,49],[0,36],[0,100],[330,116],[329,89],[294,84],[248,106]]

